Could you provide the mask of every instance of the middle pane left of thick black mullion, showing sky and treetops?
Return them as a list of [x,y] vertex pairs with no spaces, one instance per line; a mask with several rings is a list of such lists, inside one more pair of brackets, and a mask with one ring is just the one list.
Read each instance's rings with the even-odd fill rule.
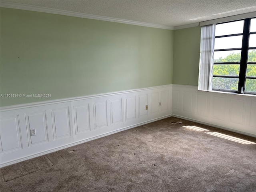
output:
[[215,51],[214,62],[240,62],[241,50]]

